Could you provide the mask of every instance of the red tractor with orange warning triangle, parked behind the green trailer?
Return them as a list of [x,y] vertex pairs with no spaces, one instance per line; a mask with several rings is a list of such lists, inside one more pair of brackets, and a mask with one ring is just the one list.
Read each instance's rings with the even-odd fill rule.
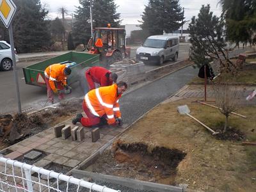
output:
[[116,61],[129,58],[131,48],[125,44],[125,29],[122,28],[95,28],[93,36],[88,42],[89,53],[100,54],[100,60],[109,67]]

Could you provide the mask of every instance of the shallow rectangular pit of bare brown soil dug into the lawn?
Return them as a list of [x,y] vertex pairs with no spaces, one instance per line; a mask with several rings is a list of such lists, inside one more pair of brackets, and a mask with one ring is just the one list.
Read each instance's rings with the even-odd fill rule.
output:
[[[112,152],[115,151],[115,152]],[[178,149],[148,148],[143,143],[118,140],[88,170],[164,184],[175,184],[177,166],[186,156]]]

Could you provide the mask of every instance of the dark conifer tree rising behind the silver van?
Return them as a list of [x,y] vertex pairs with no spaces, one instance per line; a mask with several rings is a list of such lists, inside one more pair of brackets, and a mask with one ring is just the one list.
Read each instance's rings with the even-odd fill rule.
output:
[[150,35],[172,33],[182,26],[182,19],[178,0],[150,0],[142,15],[141,28]]

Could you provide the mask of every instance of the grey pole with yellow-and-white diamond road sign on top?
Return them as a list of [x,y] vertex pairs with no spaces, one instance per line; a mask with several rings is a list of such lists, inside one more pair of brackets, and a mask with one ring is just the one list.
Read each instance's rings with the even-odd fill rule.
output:
[[17,9],[16,5],[13,3],[12,0],[0,0],[0,18],[3,21],[4,26],[8,28],[8,31],[9,31],[18,112],[21,113],[19,81],[17,77],[17,67],[16,67],[16,58],[15,58],[13,31],[12,31],[12,19],[16,12],[16,9]]

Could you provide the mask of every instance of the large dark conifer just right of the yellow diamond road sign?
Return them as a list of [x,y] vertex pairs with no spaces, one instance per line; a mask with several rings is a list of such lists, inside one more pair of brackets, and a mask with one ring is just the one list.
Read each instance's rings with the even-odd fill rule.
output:
[[15,0],[17,13],[13,20],[13,38],[19,52],[36,52],[51,45],[48,11],[40,0]]

